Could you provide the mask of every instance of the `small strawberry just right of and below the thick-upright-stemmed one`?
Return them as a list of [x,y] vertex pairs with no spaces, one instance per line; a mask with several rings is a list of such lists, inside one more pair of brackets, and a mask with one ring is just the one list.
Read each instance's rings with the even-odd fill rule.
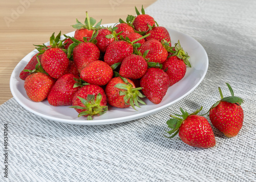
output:
[[98,35],[95,39],[97,40],[95,45],[99,48],[101,53],[105,53],[106,47],[115,40],[112,32],[108,29],[98,30]]

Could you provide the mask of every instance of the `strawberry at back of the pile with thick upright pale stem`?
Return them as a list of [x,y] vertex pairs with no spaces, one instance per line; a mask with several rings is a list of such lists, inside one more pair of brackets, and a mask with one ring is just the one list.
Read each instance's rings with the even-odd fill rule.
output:
[[87,41],[89,41],[93,35],[93,32],[100,28],[101,20],[93,27],[96,23],[96,20],[92,17],[89,18],[88,12],[86,12],[86,20],[84,20],[84,24],[76,19],[76,24],[72,25],[73,28],[77,29],[74,34],[74,38],[83,42],[83,37],[87,37]]

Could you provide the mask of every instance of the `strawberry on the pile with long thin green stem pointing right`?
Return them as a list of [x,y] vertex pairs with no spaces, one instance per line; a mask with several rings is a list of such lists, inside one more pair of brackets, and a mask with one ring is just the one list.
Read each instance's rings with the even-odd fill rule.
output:
[[120,36],[122,40],[112,42],[108,48],[106,48],[106,53],[104,55],[104,62],[108,63],[112,66],[115,63],[121,63],[123,59],[131,54],[133,54],[134,47],[138,47],[141,44],[135,43],[141,39],[144,39],[146,36],[140,37],[134,41],[130,41],[129,38],[123,38]]

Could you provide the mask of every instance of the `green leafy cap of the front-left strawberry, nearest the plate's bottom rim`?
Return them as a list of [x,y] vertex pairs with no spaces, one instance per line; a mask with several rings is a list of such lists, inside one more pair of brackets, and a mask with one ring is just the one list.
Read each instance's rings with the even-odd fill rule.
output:
[[82,102],[84,107],[82,106],[71,106],[70,108],[85,110],[78,114],[78,117],[87,116],[87,120],[93,120],[92,116],[100,116],[106,111],[108,111],[108,106],[101,106],[100,101],[102,99],[102,95],[100,93],[97,94],[96,99],[95,95],[88,94],[87,98],[82,98],[77,96],[77,98]]

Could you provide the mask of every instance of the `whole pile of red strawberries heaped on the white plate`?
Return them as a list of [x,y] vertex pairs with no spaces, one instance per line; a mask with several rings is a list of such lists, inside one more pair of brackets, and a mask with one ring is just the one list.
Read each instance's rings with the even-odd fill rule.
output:
[[52,34],[50,45],[35,45],[20,79],[28,97],[52,106],[71,106],[92,120],[117,108],[145,105],[143,97],[158,104],[167,89],[179,82],[191,67],[179,41],[172,46],[166,28],[141,14],[119,19],[113,27],[89,18],[76,19],[73,37]]

